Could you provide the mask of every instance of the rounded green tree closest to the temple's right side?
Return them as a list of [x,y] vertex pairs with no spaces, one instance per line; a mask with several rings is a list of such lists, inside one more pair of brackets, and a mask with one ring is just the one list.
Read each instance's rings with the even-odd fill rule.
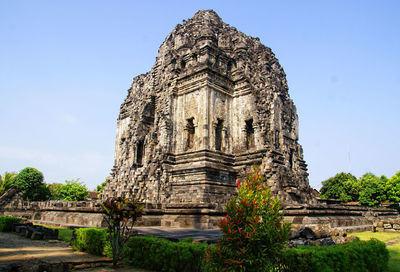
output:
[[339,173],[322,182],[322,198],[339,199],[345,202],[357,201],[360,185],[357,178],[350,173]]

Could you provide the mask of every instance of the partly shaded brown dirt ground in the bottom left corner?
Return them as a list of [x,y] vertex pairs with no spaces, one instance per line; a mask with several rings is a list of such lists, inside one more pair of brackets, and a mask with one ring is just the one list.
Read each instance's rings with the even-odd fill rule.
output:
[[[87,272],[146,271],[126,266],[112,269],[109,258],[73,251],[67,243],[62,241],[31,240],[15,233],[0,232],[0,266],[5,267],[10,264],[19,266],[18,271],[41,271],[39,266],[55,267],[60,264]],[[94,266],[98,267],[90,268]],[[7,270],[1,270],[0,267],[0,271]]]

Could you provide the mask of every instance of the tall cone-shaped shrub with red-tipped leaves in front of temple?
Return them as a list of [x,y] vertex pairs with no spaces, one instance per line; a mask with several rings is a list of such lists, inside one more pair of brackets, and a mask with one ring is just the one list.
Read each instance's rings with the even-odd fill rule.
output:
[[238,196],[228,202],[220,222],[223,236],[206,260],[215,271],[270,271],[288,239],[290,224],[283,221],[279,199],[271,195],[256,167],[243,185],[238,181],[238,187]]

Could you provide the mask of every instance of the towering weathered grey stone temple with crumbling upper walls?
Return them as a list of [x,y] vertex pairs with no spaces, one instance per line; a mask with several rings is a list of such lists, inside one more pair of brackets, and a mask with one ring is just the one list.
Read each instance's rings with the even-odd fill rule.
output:
[[219,210],[252,165],[284,203],[315,201],[275,55],[214,11],[198,11],[167,36],[151,71],[134,78],[103,197]]

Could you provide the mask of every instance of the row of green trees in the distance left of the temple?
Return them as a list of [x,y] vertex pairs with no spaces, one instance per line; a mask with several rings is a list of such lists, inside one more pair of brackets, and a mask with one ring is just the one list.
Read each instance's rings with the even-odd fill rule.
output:
[[86,185],[79,179],[66,180],[64,184],[46,184],[42,172],[32,167],[26,167],[18,174],[5,172],[0,175],[0,195],[12,186],[20,190],[23,199],[30,201],[80,201],[88,196]]

